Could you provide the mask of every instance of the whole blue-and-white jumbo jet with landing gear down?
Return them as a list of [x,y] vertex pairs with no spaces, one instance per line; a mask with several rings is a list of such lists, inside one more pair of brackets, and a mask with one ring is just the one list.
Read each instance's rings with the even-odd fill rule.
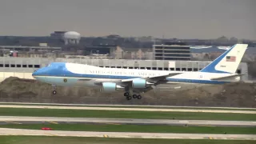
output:
[[[102,92],[123,90],[127,100],[141,99],[140,93],[158,84],[224,84],[238,82],[242,74],[235,74],[246,52],[247,44],[236,44],[200,71],[130,70],[102,68],[77,63],[52,62],[35,71],[32,76],[40,82],[55,86],[80,86]],[[56,94],[53,90],[53,94]]]

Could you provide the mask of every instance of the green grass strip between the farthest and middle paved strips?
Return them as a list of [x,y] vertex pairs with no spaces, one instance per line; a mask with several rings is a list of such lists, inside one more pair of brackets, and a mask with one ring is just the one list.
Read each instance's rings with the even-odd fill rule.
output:
[[0,108],[1,116],[69,117],[69,118],[150,118],[187,120],[237,120],[255,121],[256,114],[221,114],[190,112],[151,112],[128,110],[56,110]]

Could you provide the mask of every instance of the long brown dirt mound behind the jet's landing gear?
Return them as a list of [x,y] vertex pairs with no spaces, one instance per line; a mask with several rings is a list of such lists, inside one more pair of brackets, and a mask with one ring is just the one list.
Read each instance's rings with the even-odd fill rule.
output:
[[122,92],[102,94],[90,88],[58,87],[58,94],[54,95],[46,83],[10,77],[0,84],[0,101],[256,107],[255,88],[256,84],[238,82],[180,91],[152,90],[143,94],[142,100],[126,101]]

